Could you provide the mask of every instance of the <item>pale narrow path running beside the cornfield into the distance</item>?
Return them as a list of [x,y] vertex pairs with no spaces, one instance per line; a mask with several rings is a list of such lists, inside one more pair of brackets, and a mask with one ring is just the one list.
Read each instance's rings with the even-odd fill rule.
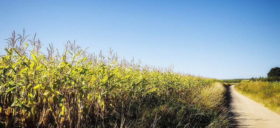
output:
[[235,128],[280,128],[280,116],[248,97],[227,87],[231,123]]

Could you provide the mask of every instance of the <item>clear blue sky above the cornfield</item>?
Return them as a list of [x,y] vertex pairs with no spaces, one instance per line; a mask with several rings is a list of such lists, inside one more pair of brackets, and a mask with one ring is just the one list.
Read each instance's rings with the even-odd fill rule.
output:
[[[280,1],[1,1],[0,41],[13,30],[67,40],[205,77],[266,76],[280,66]],[[46,47],[47,45],[43,46]]]

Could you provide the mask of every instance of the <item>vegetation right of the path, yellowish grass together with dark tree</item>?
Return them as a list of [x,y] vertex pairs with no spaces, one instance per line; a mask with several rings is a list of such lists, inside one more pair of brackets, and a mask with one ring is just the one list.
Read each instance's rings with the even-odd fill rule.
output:
[[280,114],[279,78],[280,70],[275,67],[268,72],[268,77],[251,78],[250,80],[242,81],[235,86],[235,89]]

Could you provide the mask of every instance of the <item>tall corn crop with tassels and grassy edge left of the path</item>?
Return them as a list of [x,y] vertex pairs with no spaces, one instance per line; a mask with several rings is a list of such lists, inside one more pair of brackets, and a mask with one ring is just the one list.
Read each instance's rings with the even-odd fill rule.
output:
[[[36,34],[35,34],[36,35]],[[74,43],[40,52],[13,33],[0,61],[6,127],[227,127],[219,80],[88,54]]]

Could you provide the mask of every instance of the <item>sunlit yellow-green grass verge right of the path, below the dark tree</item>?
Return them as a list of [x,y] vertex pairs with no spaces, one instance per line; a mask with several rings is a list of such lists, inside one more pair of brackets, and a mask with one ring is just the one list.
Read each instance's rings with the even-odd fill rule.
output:
[[280,114],[280,82],[242,81],[235,88]]

